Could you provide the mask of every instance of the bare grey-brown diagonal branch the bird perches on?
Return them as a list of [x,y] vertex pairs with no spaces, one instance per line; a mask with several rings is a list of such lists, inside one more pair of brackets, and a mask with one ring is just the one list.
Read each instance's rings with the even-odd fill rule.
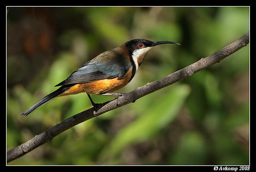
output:
[[[248,32],[238,40],[232,42],[228,46],[225,46],[224,48],[215,52],[214,54],[206,58],[202,58],[197,62],[191,64],[190,66],[178,70],[164,78],[148,83],[144,86],[138,87],[134,91],[124,94],[120,98],[116,98],[114,100],[110,100],[108,102],[99,104],[95,115],[99,116],[110,110],[135,102],[137,99],[146,96],[147,94],[150,94],[152,92],[155,92],[156,90],[174,84],[175,82],[178,82],[179,80],[182,80],[187,76],[190,76],[200,70],[203,70],[209,66],[212,66],[215,63],[220,62],[222,59],[226,58],[230,54],[233,54],[237,50],[246,46],[249,43],[249,35],[250,34]],[[55,126],[46,130],[45,132],[36,135],[34,138],[21,144],[20,146],[9,150],[7,152],[7,162],[10,162],[25,155],[26,153],[37,148],[38,146],[41,146],[42,144],[52,140],[58,134],[68,130],[69,128],[77,124],[80,124],[81,122],[84,122],[94,117],[95,116],[93,113],[93,108],[80,112],[74,116],[71,116],[70,118],[60,122],[59,124],[56,124]]]

